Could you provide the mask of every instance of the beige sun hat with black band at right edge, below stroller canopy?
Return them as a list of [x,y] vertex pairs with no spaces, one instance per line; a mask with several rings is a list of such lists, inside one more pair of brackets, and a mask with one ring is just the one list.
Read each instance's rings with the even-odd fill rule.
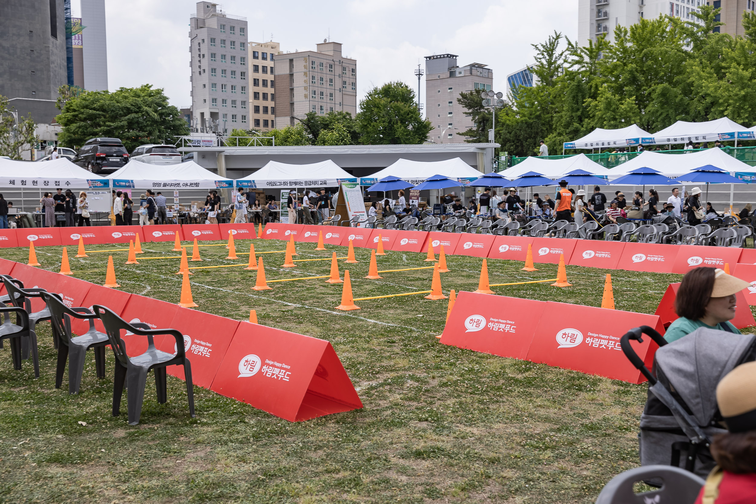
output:
[[717,385],[717,404],[730,432],[756,429],[756,362],[727,373]]

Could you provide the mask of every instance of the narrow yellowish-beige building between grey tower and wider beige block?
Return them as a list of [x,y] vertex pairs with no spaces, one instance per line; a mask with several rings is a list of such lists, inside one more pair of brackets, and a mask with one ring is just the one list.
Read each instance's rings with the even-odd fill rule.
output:
[[[274,56],[280,54],[278,42],[249,42],[249,129],[270,131],[275,128]],[[288,124],[288,123],[287,123]]]

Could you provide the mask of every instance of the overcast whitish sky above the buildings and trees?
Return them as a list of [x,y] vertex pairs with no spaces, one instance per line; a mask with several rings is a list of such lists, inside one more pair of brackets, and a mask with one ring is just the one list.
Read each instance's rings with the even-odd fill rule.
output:
[[[73,14],[79,2],[73,0]],[[358,99],[376,85],[403,81],[417,89],[414,70],[424,56],[458,54],[457,63],[494,70],[494,90],[506,91],[508,73],[532,63],[531,44],[554,30],[575,39],[576,0],[342,0],[243,2],[227,0],[228,14],[244,16],[252,42],[280,42],[281,50],[314,50],[330,35],[356,58]],[[191,104],[189,18],[196,2],[105,0],[110,91],[145,83],[163,88],[171,104]],[[423,85],[424,88],[424,85]],[[425,100],[425,92],[421,94]]]

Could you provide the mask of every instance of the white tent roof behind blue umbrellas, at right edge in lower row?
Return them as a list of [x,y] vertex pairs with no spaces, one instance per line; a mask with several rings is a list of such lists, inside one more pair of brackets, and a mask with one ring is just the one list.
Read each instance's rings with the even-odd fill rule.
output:
[[719,147],[694,151],[689,154],[665,154],[644,150],[634,159],[623,162],[609,170],[609,179],[614,180],[621,175],[627,175],[634,169],[648,167],[661,172],[669,178],[679,177],[704,165],[713,165],[727,172],[754,172],[756,168],[735,159]]

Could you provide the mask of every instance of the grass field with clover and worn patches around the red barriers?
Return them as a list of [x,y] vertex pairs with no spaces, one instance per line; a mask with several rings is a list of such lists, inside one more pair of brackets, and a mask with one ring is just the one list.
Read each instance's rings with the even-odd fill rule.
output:
[[[205,242],[205,244],[214,242]],[[258,252],[282,250],[255,240]],[[147,243],[144,256],[175,255],[172,243]],[[299,258],[330,257],[300,243]],[[88,249],[113,249],[91,246]],[[246,252],[248,241],[237,242]],[[222,246],[200,248],[203,265],[227,261]],[[108,253],[73,258],[75,277],[104,283]],[[191,254],[191,248],[189,249]],[[432,270],[365,280],[370,251],[350,264],[355,297],[430,289]],[[178,302],[178,260],[125,265],[112,252],[126,292]],[[387,252],[379,270],[426,266],[424,254]],[[60,268],[60,247],[40,247],[42,267]],[[27,249],[0,256],[26,262]],[[265,254],[268,280],[327,275],[330,261],[282,268]],[[449,289],[474,290],[481,260],[447,256]],[[339,261],[343,263],[343,261]],[[190,263],[194,266],[199,263]],[[341,270],[345,267],[340,264]],[[489,261],[491,283],[556,277],[556,265],[520,271]],[[107,379],[89,357],[82,392],[54,388],[56,351],[49,323],[39,326],[42,376],[30,361],[14,371],[0,351],[0,502],[593,502],[613,475],[638,465],[637,428],[646,385],[629,385],[541,364],[440,345],[447,301],[422,295],[358,301],[342,312],[342,286],[323,280],[274,283],[253,291],[242,267],[195,270],[197,308],[327,339],[352,378],[364,409],[291,423],[195,388],[197,418],[187,413],[183,382],[168,377],[167,404],[147,382],[141,424],[110,416],[113,355]],[[572,287],[548,283],[494,287],[500,295],[600,306],[607,271],[567,267]],[[680,275],[610,271],[618,309],[653,313]],[[125,401],[125,397],[124,397]],[[124,402],[125,404],[125,402]],[[125,411],[125,406],[122,406]],[[85,422],[86,425],[81,425]]]

